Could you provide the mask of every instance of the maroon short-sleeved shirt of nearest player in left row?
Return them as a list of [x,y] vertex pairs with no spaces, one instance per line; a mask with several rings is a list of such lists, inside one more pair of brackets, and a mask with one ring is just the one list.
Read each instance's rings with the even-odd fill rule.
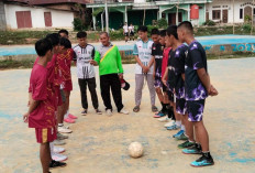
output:
[[29,116],[30,128],[53,128],[56,125],[55,98],[47,79],[47,68],[35,63],[30,77],[32,98],[38,106]]

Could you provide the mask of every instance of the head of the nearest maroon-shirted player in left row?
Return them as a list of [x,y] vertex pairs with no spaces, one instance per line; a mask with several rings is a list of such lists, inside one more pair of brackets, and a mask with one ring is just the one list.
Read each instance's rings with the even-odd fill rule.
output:
[[48,39],[42,39],[35,43],[35,51],[37,55],[42,58],[45,57],[47,62],[49,62],[53,57],[52,50],[53,45]]

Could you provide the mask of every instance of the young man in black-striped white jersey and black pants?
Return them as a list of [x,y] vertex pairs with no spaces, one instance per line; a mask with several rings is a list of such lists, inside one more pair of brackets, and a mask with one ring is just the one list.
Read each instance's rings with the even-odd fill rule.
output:
[[101,115],[102,112],[98,108],[96,73],[93,65],[90,64],[90,60],[95,58],[95,47],[87,43],[87,33],[84,31],[77,33],[77,40],[79,44],[74,47],[74,61],[77,66],[77,77],[80,87],[81,105],[84,108],[81,115],[86,116],[88,113],[87,86],[91,95],[95,111],[96,113]]

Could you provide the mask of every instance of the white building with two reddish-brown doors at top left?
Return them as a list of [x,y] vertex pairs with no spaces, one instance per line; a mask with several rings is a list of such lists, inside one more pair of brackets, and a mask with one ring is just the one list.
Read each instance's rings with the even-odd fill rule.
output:
[[78,11],[76,3],[85,0],[3,0],[0,1],[0,29],[73,28]]

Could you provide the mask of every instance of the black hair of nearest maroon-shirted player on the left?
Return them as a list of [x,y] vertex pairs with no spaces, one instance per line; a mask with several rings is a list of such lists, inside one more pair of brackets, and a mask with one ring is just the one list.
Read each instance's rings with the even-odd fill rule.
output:
[[53,45],[48,39],[38,40],[34,46],[38,56],[45,56],[48,51],[53,50]]

